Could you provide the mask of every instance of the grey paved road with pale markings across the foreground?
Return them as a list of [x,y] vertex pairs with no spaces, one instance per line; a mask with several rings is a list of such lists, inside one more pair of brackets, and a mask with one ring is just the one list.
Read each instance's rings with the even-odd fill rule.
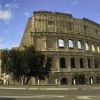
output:
[[76,90],[64,88],[63,90],[54,90],[54,88],[53,90],[2,88],[0,89],[0,100],[100,100],[100,89],[96,88],[76,88]]

